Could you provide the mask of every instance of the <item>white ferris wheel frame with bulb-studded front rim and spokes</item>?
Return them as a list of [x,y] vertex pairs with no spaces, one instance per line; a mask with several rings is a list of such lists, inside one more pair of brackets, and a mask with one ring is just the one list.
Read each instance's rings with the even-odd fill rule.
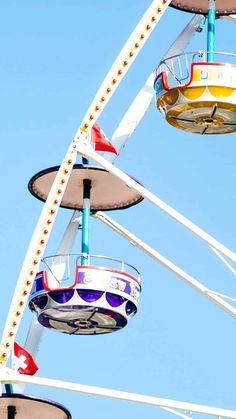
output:
[[[128,39],[127,43],[125,44],[124,48],[122,49],[121,53],[117,57],[115,63],[111,67],[111,70],[105,77],[100,89],[98,90],[94,100],[92,101],[84,120],[82,121],[73,141],[71,142],[69,149],[65,155],[65,158],[62,162],[62,165],[58,171],[58,174],[55,178],[51,191],[49,193],[48,199],[43,207],[42,213],[40,215],[39,221],[37,223],[36,229],[34,231],[32,240],[30,242],[29,248],[26,253],[26,257],[22,266],[22,270],[17,281],[16,290],[10,305],[8,318],[6,321],[6,326],[3,332],[2,341],[0,345],[0,382],[1,384],[34,384],[34,385],[41,385],[41,386],[48,386],[57,389],[64,389],[69,391],[77,391],[80,393],[86,393],[91,395],[103,396],[103,397],[110,397],[114,399],[120,400],[128,400],[138,403],[150,404],[153,406],[161,407],[167,410],[170,413],[173,413],[177,416],[180,416],[184,419],[187,419],[189,416],[186,414],[191,414],[192,412],[200,413],[200,414],[207,414],[216,417],[228,417],[232,419],[236,419],[236,411],[228,410],[228,409],[220,409],[211,406],[202,406],[187,402],[180,402],[170,399],[163,399],[157,398],[152,396],[145,396],[141,394],[134,394],[134,393],[127,393],[121,392],[111,389],[103,389],[100,387],[92,387],[92,386],[85,386],[76,383],[69,383],[60,380],[51,380],[47,378],[40,378],[40,377],[30,377],[24,376],[19,374],[18,372],[14,371],[13,369],[6,367],[6,362],[9,358],[10,352],[12,350],[12,346],[14,343],[15,335],[20,325],[20,321],[23,316],[25,303],[28,299],[29,292],[31,290],[33,280],[36,275],[36,266],[41,260],[46,244],[48,242],[50,232],[54,225],[56,215],[61,203],[61,199],[63,197],[63,193],[67,186],[69,176],[71,174],[73,164],[76,161],[77,154],[81,154],[82,156],[94,160],[97,164],[101,165],[103,168],[108,170],[109,172],[113,173],[123,182],[125,182],[130,188],[139,192],[144,198],[148,199],[154,205],[162,209],[165,213],[169,216],[174,218],[177,222],[182,224],[184,227],[189,229],[192,233],[194,233],[198,238],[202,239],[207,245],[217,254],[217,256],[229,267],[229,269],[235,273],[232,266],[228,263],[225,259],[229,259],[231,262],[236,262],[236,253],[228,249],[226,246],[221,244],[218,240],[213,238],[211,235],[206,233],[200,227],[192,223],[182,214],[171,208],[168,204],[161,201],[158,197],[148,191],[146,188],[139,185],[129,176],[125,175],[121,170],[117,169],[110,161],[112,158],[104,158],[98,153],[94,151],[92,146],[90,145],[87,137],[87,132],[91,129],[92,125],[96,122],[101,112],[104,110],[106,104],[108,103],[109,99],[111,98],[112,94],[114,93],[115,89],[118,87],[120,81],[127,73],[128,69],[130,68],[131,63],[137,57],[139,51],[145,44],[146,40],[149,38],[150,34],[152,33],[153,29],[155,28],[156,24],[159,22],[160,18],[166,11],[169,3],[171,0],[162,0],[160,5],[160,0],[154,0],[144,16],[142,17],[141,21],[135,28],[134,32],[131,34],[130,38]],[[195,20],[198,21],[198,24],[201,22],[201,18],[195,17]],[[192,20],[192,22],[194,19]],[[185,35],[189,36],[189,38],[193,34],[193,25],[187,25],[187,31]],[[145,35],[144,35],[145,34]],[[185,44],[186,44],[186,39]],[[176,47],[176,44],[175,44]],[[178,45],[177,48],[181,49],[183,45]],[[176,51],[176,50],[175,50]],[[116,77],[116,78],[114,78]],[[145,111],[147,110],[148,106],[150,105],[152,98],[153,98],[153,91],[151,90],[151,83],[154,78],[154,73],[152,73],[147,80],[144,88],[141,90],[139,95],[136,98],[136,102],[134,101],[133,107],[131,106],[128,110],[127,114],[121,121],[117,131],[114,133],[112,142],[115,147],[120,150],[121,147],[124,146],[126,140],[131,136],[134,129],[142,119]],[[114,82],[115,80],[115,82]],[[144,97],[146,94],[146,101],[145,105],[142,109],[139,109],[139,116],[136,121],[130,124],[130,115],[134,110],[137,110],[137,103],[140,102],[140,96]],[[128,129],[127,129],[128,127]],[[110,159],[110,161],[109,161]],[[60,188],[60,189],[59,189]],[[50,214],[50,215],[49,215]],[[190,285],[194,286],[198,291],[204,294],[207,298],[214,301],[216,304],[224,308],[230,314],[236,316],[236,309],[230,306],[224,299],[231,299],[235,301],[231,297],[227,297],[211,291],[203,286],[201,283],[196,281],[194,278],[190,277],[184,271],[180,270],[180,268],[176,267],[172,264],[172,262],[168,261],[166,258],[158,254],[155,250],[151,249],[148,245],[138,239],[136,236],[132,235],[132,233],[128,232],[128,230],[124,229],[124,227],[118,225],[114,220],[107,217],[103,213],[95,214],[95,217],[100,219],[105,224],[109,225],[113,228],[116,232],[121,234],[123,237],[127,238],[128,240],[132,241],[136,245],[138,245],[142,250],[146,253],[150,254],[150,256],[154,257],[160,263],[163,263],[166,267],[171,269],[173,272],[177,273],[182,279],[185,279]],[[72,224],[74,223],[74,224]],[[57,253],[61,252],[62,247],[64,249],[69,249],[72,246],[73,238],[75,237],[76,230],[78,227],[79,218],[78,213],[75,212],[72,216],[72,219],[69,223],[68,229],[65,233],[64,239],[62,240],[61,247]],[[178,272],[177,272],[178,271]],[[186,276],[187,275],[187,276]],[[21,303],[21,304],[20,304]],[[20,310],[19,310],[19,307]],[[37,322],[32,323],[32,330],[29,332],[29,336],[32,338],[34,335],[34,343],[37,342],[39,344],[41,330],[37,329]],[[31,342],[32,343],[32,342]],[[26,345],[27,346],[27,345]],[[30,339],[28,341],[28,346],[30,346]],[[36,345],[37,346],[37,345]],[[33,352],[37,350],[36,346],[32,347]],[[182,412],[183,411],[183,412]]]

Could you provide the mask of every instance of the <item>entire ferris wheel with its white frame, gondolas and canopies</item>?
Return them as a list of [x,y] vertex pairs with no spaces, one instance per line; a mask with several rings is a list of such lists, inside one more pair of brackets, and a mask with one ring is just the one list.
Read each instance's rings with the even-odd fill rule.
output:
[[[110,141],[96,122],[169,6],[177,9],[176,14],[190,12],[194,16],[150,74]],[[45,329],[66,335],[97,335],[129,327],[141,295],[139,268],[114,256],[90,252],[91,217],[236,317],[233,296],[208,288],[106,214],[128,210],[146,199],[205,242],[235,274],[231,265],[236,262],[235,252],[113,164],[154,98],[158,110],[174,128],[200,135],[236,131],[236,56],[217,52],[214,43],[216,17],[234,19],[234,15],[235,0],[154,0],[105,77],[61,165],[46,168],[30,179],[31,194],[45,203],[16,284],[1,341],[0,377],[6,393],[0,398],[0,413],[4,419],[38,419],[43,414],[52,419],[71,418],[69,410],[56,402],[25,396],[22,384],[150,404],[183,418],[189,417],[190,412],[236,418],[236,411],[229,409],[32,377],[22,373],[22,365],[21,373],[16,363],[11,368],[6,366],[27,303],[34,318],[24,349],[32,357],[37,354]],[[206,19],[206,49],[186,52],[191,38],[203,30]],[[73,213],[55,254],[44,256],[60,207]],[[82,230],[81,252],[74,253],[78,229]],[[16,392],[13,385],[21,386],[22,393]]]

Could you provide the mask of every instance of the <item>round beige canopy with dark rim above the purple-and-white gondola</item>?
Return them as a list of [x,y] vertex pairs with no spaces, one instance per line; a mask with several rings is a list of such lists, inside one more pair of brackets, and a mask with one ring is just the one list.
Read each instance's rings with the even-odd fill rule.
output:
[[[29,191],[41,201],[46,201],[59,166],[50,167],[36,173],[29,181]],[[129,208],[143,200],[142,196],[129,188],[113,174],[90,165],[75,164],[61,207],[82,210],[83,181],[91,181],[91,210],[110,211]]]

